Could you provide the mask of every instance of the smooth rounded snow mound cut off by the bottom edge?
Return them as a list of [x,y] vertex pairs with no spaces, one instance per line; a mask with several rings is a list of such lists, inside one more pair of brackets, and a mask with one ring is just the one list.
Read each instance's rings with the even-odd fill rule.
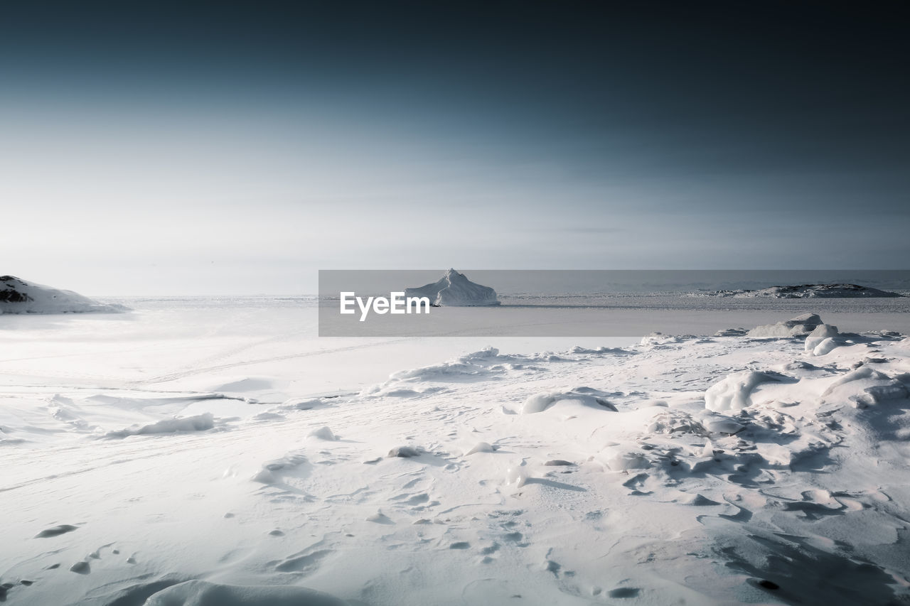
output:
[[152,594],[146,606],[344,606],[347,602],[293,585],[222,585],[186,581]]

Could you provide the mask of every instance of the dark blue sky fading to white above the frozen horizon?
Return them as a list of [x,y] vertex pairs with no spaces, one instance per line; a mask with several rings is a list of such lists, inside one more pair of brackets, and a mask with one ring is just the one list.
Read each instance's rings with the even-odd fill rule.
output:
[[900,3],[5,5],[0,273],[904,269]]

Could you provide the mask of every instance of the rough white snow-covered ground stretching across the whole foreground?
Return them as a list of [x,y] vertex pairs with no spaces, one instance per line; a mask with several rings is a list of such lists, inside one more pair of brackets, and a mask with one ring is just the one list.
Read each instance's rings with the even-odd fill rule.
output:
[[895,315],[317,339],[299,300],[128,304],[0,318],[10,604],[910,597]]

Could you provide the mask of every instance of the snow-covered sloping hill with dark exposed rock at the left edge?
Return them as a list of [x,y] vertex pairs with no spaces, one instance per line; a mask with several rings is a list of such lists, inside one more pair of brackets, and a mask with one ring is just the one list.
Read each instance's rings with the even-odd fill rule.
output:
[[58,290],[26,282],[15,276],[0,276],[0,314],[118,313],[122,305],[98,303],[72,290]]

